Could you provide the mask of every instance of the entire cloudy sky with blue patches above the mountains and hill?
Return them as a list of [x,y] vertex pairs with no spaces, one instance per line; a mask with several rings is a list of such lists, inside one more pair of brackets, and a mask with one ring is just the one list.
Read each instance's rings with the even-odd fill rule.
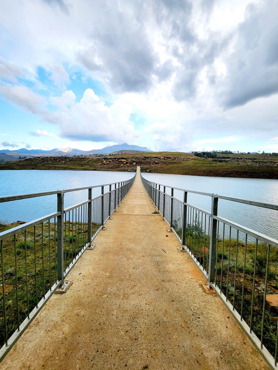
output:
[[278,0],[1,0],[0,150],[278,152]]

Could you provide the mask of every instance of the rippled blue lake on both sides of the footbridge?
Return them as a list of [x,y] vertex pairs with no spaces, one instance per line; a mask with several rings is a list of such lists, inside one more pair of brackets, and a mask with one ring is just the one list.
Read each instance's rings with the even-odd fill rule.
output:
[[[128,180],[133,175],[132,172],[112,171],[0,171],[0,196],[109,184],[110,182]],[[150,181],[170,187],[278,204],[277,180],[147,173],[142,175]],[[108,191],[108,187],[105,188],[106,191]],[[166,188],[166,192],[170,194],[171,189]],[[93,196],[99,194],[100,189],[93,190]],[[180,191],[175,191],[174,195],[178,199],[183,199],[183,194]],[[51,195],[0,203],[0,220],[9,223],[18,220],[31,221],[55,212],[56,199],[56,195]],[[64,206],[67,207],[85,199],[87,199],[87,191],[66,193]],[[188,193],[188,202],[207,211],[211,209],[211,198],[207,196]],[[219,199],[218,214],[256,231],[278,238],[278,211]]]

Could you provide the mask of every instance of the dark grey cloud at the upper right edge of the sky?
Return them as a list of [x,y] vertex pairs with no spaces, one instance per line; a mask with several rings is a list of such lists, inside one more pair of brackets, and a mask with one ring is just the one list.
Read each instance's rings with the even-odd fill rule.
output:
[[226,107],[243,105],[278,92],[278,7],[267,0],[246,8],[225,59],[221,94]]

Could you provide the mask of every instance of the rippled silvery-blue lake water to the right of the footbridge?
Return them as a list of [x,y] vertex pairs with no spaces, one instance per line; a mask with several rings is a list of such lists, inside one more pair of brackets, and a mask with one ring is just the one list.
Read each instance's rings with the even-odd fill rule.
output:
[[[186,190],[278,204],[278,180],[142,174],[149,181]],[[163,188],[162,188],[163,190]],[[171,188],[166,188],[171,194]],[[183,200],[183,192],[174,196]],[[188,193],[188,203],[211,211],[211,197]],[[278,211],[219,199],[218,215],[278,239]]]

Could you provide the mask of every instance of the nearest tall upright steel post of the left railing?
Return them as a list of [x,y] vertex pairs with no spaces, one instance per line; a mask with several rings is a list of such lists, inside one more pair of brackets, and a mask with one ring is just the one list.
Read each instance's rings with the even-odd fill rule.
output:
[[64,285],[64,193],[57,194],[57,279]]

